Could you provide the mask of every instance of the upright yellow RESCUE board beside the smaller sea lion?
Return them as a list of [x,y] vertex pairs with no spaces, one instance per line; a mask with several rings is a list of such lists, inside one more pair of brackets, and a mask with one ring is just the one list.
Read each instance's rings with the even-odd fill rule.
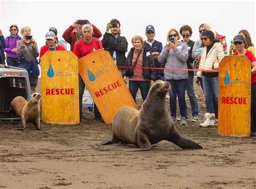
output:
[[78,58],[48,51],[41,58],[42,117],[51,124],[79,124]]

